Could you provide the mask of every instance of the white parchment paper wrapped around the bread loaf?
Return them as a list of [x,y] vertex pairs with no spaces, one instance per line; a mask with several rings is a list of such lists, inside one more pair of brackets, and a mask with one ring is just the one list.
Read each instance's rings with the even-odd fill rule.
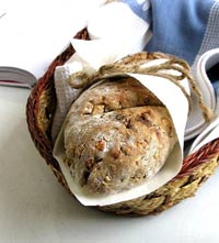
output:
[[[118,74],[119,75],[119,74]],[[58,161],[61,172],[66,177],[68,186],[77,199],[84,206],[105,206],[120,201],[130,200],[134,198],[141,197],[150,194],[158,189],[174,176],[177,175],[181,169],[183,162],[183,144],[184,144],[184,130],[188,114],[188,102],[182,90],[175,86],[172,81],[150,75],[137,75],[137,74],[125,74],[139,80],[145,87],[150,89],[168,108],[172,120],[174,122],[175,131],[177,134],[177,143],[170,154],[162,169],[151,179],[145,181],[140,186],[136,186],[129,190],[125,190],[114,195],[91,195],[84,188],[77,185],[73,177],[70,175],[68,167],[65,165],[65,137],[64,130],[65,123],[61,131],[56,140],[54,156]],[[124,76],[124,74],[123,74]],[[187,86],[184,80],[185,87]],[[176,101],[176,102],[175,102]]]

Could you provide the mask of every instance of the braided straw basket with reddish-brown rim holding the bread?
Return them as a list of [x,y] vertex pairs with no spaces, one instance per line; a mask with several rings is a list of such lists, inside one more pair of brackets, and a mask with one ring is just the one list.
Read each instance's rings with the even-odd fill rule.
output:
[[[79,32],[76,37],[88,40],[87,30]],[[50,64],[46,74],[33,88],[26,106],[27,125],[34,144],[59,183],[69,192],[70,190],[60,167],[53,157],[54,144],[50,137],[50,129],[56,108],[54,71],[56,66],[62,65],[73,53],[73,48],[69,46]],[[143,216],[161,212],[183,199],[194,196],[198,187],[215,172],[218,166],[218,158],[219,139],[185,157],[178,175],[155,191],[138,199],[99,208],[118,214]]]

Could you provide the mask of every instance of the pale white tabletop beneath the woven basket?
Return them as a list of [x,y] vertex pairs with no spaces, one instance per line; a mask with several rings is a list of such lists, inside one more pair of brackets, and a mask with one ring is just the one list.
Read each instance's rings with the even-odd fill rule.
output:
[[219,242],[219,170],[196,197],[150,217],[85,208],[35,150],[25,121],[28,89],[0,87],[0,242]]

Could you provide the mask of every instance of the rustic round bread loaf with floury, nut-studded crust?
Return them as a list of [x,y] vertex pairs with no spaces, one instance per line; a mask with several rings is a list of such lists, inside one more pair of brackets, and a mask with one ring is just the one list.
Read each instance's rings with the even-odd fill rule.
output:
[[115,194],[157,174],[175,143],[163,103],[134,78],[111,78],[71,106],[65,163],[90,192]]

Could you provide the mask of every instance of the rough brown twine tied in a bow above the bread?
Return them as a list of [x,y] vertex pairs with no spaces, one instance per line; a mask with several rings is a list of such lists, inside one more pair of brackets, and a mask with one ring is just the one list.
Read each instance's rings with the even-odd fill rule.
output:
[[[188,100],[189,110],[192,109],[192,99],[189,95],[186,92],[185,88],[181,85],[181,80],[187,78],[191,87],[196,93],[198,98],[199,107],[203,111],[203,115],[206,122],[210,122],[214,118],[214,112],[210,108],[208,108],[204,103],[204,98],[200,89],[198,88],[196,81],[191,75],[191,68],[185,60],[178,59],[175,56],[168,56],[168,60],[165,63],[142,67],[143,64],[158,58],[166,58],[165,55],[155,53],[139,53],[131,56],[127,56],[120,60],[117,60],[113,64],[102,66],[95,74],[88,75],[83,71],[77,71],[70,76],[69,85],[74,89],[88,89],[90,86],[94,85],[95,82],[100,81],[101,78],[104,76],[113,75],[113,74],[125,74],[125,73],[132,73],[132,74],[142,74],[142,75],[152,75],[169,79],[174,85],[176,85],[185,97]],[[166,70],[175,70],[177,75],[168,74]],[[165,73],[164,73],[165,71]]]

